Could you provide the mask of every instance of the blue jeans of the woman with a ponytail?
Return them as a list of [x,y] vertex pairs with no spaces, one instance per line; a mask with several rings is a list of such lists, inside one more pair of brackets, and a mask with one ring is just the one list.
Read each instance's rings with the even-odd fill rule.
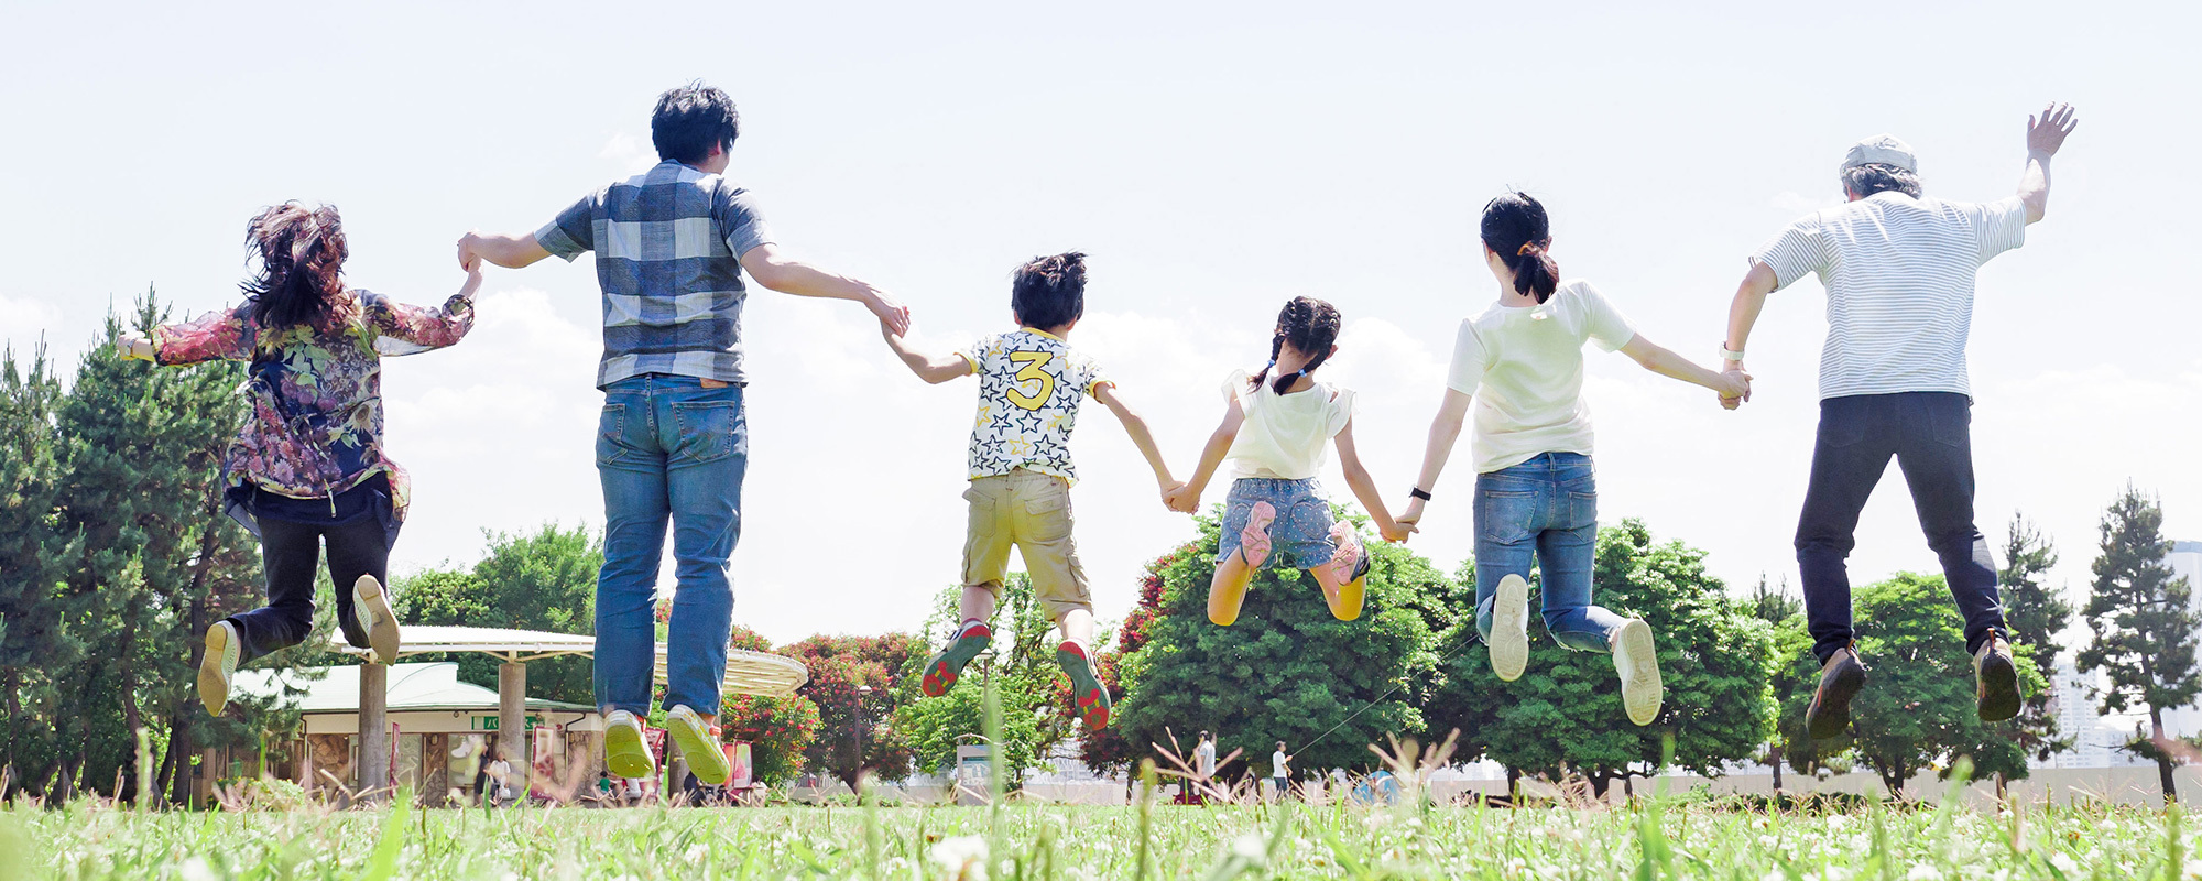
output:
[[1577,652],[1607,652],[1621,614],[1590,603],[1599,546],[1599,482],[1590,456],[1537,454],[1475,476],[1475,632],[1491,639],[1500,579],[1544,573],[1544,628]]

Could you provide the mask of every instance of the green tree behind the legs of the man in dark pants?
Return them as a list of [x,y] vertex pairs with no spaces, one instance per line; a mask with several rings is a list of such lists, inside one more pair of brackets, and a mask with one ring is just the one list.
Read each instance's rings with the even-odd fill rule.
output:
[[[1801,722],[1790,740],[1792,760],[1839,755],[1856,749],[1858,760],[1881,775],[1889,795],[1903,797],[1911,775],[1936,769],[1949,777],[1955,758],[1964,755],[1973,773],[2026,777],[2026,753],[2010,738],[2010,722],[1982,722],[1973,689],[1973,656],[1964,650],[1964,617],[1949,601],[1940,575],[1898,573],[1887,581],[1861,588],[1854,597],[1858,656],[1867,663],[1867,683],[1850,703],[1850,731],[1843,738],[1808,740]],[[2015,645],[2019,692],[2041,692],[2048,683],[2035,667],[2032,648]],[[1812,683],[1819,665],[1812,663]],[[1784,707],[1786,718],[1801,720],[1810,687],[1801,687]]]

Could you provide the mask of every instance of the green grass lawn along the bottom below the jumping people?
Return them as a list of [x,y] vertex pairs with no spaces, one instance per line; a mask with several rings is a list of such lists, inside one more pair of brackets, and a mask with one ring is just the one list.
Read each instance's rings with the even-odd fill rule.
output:
[[[989,822],[998,824],[989,830]],[[1156,806],[137,813],[0,808],[0,877],[66,879],[2182,879],[2195,833],[2083,806],[1795,815]],[[1147,866],[1138,866],[1145,850]],[[2167,872],[2169,866],[2178,866]],[[971,866],[975,868],[975,866]],[[964,872],[964,879],[978,879]]]

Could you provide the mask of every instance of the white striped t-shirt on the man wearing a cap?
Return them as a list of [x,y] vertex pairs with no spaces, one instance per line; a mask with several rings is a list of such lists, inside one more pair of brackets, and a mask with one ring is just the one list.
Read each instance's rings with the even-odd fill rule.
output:
[[1988,258],[2026,244],[2026,203],[1944,203],[1878,192],[1812,211],[1751,260],[1777,291],[1819,273],[1828,289],[1828,344],[1819,396],[1896,392],[1973,394],[1964,344],[1973,280]]

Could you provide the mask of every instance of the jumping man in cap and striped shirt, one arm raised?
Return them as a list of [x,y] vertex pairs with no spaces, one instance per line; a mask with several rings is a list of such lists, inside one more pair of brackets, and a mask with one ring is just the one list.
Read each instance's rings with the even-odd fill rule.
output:
[[1942,559],[1964,612],[1980,718],[2019,711],[1995,559],[1973,524],[1971,383],[1964,370],[1973,278],[1997,253],[2026,242],[2050,196],[2050,156],[2076,126],[2068,106],[2026,123],[2026,172],[2017,196],[1951,203],[1920,194],[1918,159],[1894,137],[1850,148],[1841,178],[1850,203],[1814,211],[1751,255],[1729,308],[1722,357],[1744,370],[1744,341],[1775,293],[1819,273],[1828,289],[1828,344],[1819,357],[1819,438],[1797,522],[1819,689],[1806,709],[1812,738],[1850,727],[1850,698],[1865,685],[1850,628],[1850,557],[1858,511],[1889,458],[1911,487],[1927,544]]

